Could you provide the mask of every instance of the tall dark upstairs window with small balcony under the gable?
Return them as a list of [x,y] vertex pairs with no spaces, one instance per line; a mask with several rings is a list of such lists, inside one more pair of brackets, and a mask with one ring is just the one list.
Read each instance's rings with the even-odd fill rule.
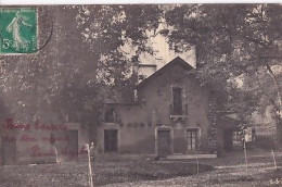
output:
[[182,115],[182,88],[172,88],[172,115]]

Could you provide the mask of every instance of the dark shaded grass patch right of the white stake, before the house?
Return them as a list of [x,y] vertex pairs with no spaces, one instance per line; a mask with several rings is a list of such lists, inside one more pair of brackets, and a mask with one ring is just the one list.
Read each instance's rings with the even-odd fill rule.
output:
[[[210,165],[200,165],[200,173],[213,171]],[[138,182],[138,180],[159,180],[177,176],[190,176],[196,174],[196,164],[185,162],[127,162],[116,165],[95,174],[95,185],[106,185],[113,183]]]

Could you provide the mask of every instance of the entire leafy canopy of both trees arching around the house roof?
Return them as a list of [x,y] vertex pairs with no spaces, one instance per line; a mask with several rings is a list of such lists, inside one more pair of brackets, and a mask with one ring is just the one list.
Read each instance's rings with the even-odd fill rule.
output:
[[[262,89],[258,91],[253,78],[265,68],[279,80],[274,65],[281,60],[280,4],[38,9],[39,24],[44,24],[44,17],[53,23],[50,41],[38,53],[0,58],[2,97],[22,123],[36,119],[64,122],[67,114],[72,121],[97,124],[105,99],[120,95],[121,100],[130,101],[139,54],[153,52],[148,32],[156,30],[163,16],[174,28],[168,34],[170,48],[195,46],[198,68],[193,73],[218,91],[226,111],[246,117],[265,96],[280,110],[279,85],[269,84],[271,77],[260,78]],[[241,88],[238,77],[244,80]]]

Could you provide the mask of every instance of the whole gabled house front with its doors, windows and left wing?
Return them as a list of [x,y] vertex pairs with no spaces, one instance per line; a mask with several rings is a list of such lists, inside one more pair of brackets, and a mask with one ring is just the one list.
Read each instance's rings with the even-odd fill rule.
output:
[[217,150],[213,91],[181,58],[137,85],[137,102],[105,103],[99,151],[156,155]]

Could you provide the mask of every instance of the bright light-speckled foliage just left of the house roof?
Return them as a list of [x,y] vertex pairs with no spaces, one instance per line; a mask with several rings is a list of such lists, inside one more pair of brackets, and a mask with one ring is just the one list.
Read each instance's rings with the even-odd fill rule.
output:
[[[111,86],[115,90],[113,92],[119,92],[123,99],[130,101],[132,86],[137,83],[134,67],[139,63],[138,55],[142,52],[152,53],[146,45],[148,30],[158,27],[162,9],[145,4],[85,5],[75,9],[78,11],[76,20],[84,42],[98,57],[99,84]],[[128,53],[123,48],[133,48],[134,52]]]

